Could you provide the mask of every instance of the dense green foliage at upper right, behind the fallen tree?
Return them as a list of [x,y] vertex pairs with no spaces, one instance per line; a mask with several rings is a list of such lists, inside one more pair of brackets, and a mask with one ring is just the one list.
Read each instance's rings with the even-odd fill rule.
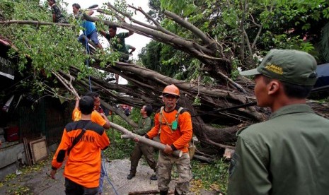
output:
[[[246,4],[245,4],[246,2]],[[160,6],[159,6],[160,4]],[[266,54],[272,48],[299,49],[318,56],[319,64],[323,59],[328,61],[328,37],[323,29],[323,35],[318,30],[325,26],[329,16],[328,1],[163,1],[152,0],[153,13],[162,13],[164,9],[173,11],[185,18],[197,28],[227,47],[226,52],[233,52],[232,78],[236,77],[236,67],[248,69],[257,64],[255,54]],[[320,6],[319,6],[320,5]],[[172,20],[163,18],[161,25],[171,32],[186,39],[200,40],[189,30],[178,26]],[[246,34],[243,33],[246,31]],[[319,39],[323,37],[322,39]],[[321,49],[317,48],[321,41]],[[147,45],[146,49],[151,47]],[[149,48],[149,49],[148,49]],[[161,49],[161,61],[173,66],[187,64],[183,72],[185,77],[191,79],[188,72],[190,57],[180,57],[172,53],[173,49]],[[320,54],[318,53],[320,52]],[[147,54],[147,51],[144,51]],[[322,58],[323,56],[324,58]],[[176,61],[179,59],[179,61]],[[146,63],[146,61],[144,61]],[[201,64],[199,64],[200,66]]]

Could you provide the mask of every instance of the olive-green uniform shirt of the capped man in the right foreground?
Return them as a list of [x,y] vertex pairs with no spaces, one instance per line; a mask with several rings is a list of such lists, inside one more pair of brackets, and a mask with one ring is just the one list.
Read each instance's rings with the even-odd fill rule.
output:
[[282,107],[238,136],[229,194],[328,194],[329,120],[307,105]]

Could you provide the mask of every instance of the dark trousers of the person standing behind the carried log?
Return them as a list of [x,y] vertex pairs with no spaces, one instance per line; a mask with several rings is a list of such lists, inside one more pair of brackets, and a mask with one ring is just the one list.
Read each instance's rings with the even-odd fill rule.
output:
[[135,143],[134,150],[132,151],[132,156],[130,157],[131,166],[130,172],[136,174],[139,159],[144,158],[154,172],[156,172],[156,160],[154,160],[154,148],[152,146],[146,145],[144,143]]

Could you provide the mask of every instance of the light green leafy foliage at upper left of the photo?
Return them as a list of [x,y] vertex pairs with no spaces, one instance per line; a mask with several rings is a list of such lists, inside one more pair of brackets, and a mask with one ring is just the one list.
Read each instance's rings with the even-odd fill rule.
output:
[[[46,1],[47,2],[47,1]],[[57,1],[61,4],[62,1]],[[37,20],[51,22],[52,13],[46,4],[40,5],[39,1],[8,1],[0,2],[0,14],[2,20]],[[93,75],[96,78],[104,78],[105,75],[96,69],[92,69],[86,61],[92,62],[91,56],[86,54],[86,48],[77,41],[81,26],[81,20],[69,18],[71,28],[58,25],[6,25],[0,28],[0,34],[13,42],[17,49],[11,49],[11,57],[18,57],[16,69],[25,76],[32,76],[28,82],[23,81],[25,88],[34,89],[37,93],[51,93],[58,95],[56,79],[52,83],[45,78],[52,78],[53,71],[69,72],[71,66],[79,69],[78,79]],[[102,60],[101,66],[109,61],[116,61],[118,54],[110,54],[105,49],[94,56]],[[29,60],[32,59],[32,60]],[[30,63],[30,65],[29,65]],[[41,74],[40,74],[41,73]],[[37,86],[37,88],[35,88]],[[45,90],[45,89],[48,90]]]

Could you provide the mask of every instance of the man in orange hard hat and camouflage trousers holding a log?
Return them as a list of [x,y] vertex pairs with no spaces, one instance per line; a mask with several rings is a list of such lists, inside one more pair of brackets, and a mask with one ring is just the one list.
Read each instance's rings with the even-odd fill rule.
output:
[[[168,194],[168,184],[171,182],[173,164],[177,166],[179,179],[175,187],[175,194],[187,194],[190,188],[192,173],[188,146],[192,138],[192,119],[187,110],[176,105],[180,91],[175,85],[168,85],[163,89],[162,100],[164,107],[156,112],[155,126],[146,134],[146,138],[160,135],[160,142],[166,145],[158,153],[156,167],[158,175],[158,189],[160,194]],[[173,157],[173,150],[182,150],[180,158]]]

